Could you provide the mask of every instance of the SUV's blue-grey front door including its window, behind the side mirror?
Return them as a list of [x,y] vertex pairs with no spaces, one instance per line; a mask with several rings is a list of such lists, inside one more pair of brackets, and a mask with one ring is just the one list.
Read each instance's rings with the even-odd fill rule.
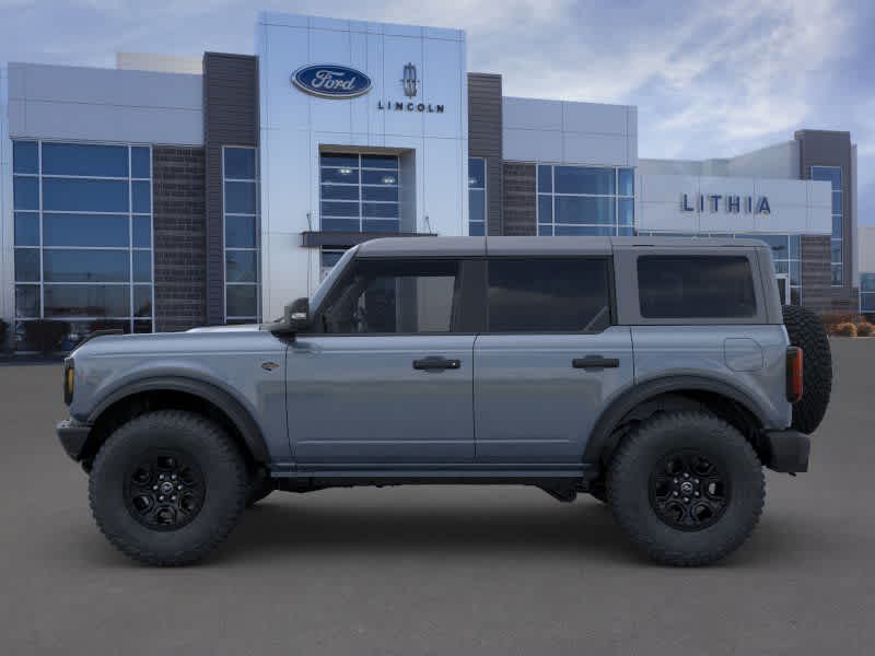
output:
[[474,333],[459,333],[457,260],[361,259],[288,351],[300,465],[474,459]]

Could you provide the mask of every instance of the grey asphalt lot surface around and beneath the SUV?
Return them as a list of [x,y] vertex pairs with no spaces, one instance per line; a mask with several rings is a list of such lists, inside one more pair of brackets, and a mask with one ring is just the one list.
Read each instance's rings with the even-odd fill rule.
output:
[[205,564],[140,566],[57,444],[60,366],[0,366],[0,653],[875,653],[875,339],[833,358],[812,471],[769,472],[754,537],[700,570],[506,487],[275,493]]

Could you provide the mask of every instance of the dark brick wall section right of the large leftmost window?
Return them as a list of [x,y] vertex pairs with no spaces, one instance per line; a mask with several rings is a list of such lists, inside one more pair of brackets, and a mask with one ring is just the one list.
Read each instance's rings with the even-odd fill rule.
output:
[[152,148],[155,330],[203,326],[206,210],[203,149]]

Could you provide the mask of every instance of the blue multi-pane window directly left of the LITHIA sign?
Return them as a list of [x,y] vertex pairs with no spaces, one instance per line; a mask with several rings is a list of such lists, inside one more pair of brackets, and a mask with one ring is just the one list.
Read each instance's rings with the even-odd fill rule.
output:
[[538,235],[634,233],[634,169],[538,165]]

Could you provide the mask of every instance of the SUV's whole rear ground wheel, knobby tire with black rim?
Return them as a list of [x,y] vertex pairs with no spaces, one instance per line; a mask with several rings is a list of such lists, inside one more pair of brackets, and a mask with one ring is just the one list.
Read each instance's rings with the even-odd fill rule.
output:
[[608,471],[617,524],[651,559],[704,565],[737,549],[759,520],[766,483],[757,454],[707,412],[670,412],[634,430]]

